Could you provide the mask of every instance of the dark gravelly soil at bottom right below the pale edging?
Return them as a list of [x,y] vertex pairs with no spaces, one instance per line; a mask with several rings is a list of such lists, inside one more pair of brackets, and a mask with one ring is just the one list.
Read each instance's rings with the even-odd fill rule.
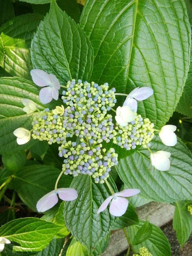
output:
[[[171,245],[171,255],[172,256],[192,256],[192,234],[183,245],[182,249],[180,248],[179,242],[176,238],[176,231],[173,229],[172,220],[168,223],[166,223],[164,226],[161,227],[161,230],[166,235],[168,241]],[[126,256],[127,251],[119,254],[118,256]],[[133,252],[130,251],[129,256],[132,256]]]

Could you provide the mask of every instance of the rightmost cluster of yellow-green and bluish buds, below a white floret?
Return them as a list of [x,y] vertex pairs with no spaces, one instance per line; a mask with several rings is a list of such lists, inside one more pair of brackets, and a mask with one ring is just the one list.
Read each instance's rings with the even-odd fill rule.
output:
[[127,126],[117,125],[113,130],[113,143],[127,150],[135,149],[137,145],[150,147],[154,137],[154,124],[148,118],[143,119],[135,113],[135,120]]

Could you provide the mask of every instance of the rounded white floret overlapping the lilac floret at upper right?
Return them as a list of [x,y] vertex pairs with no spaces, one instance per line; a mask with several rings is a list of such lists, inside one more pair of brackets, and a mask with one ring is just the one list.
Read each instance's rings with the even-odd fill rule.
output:
[[119,125],[125,127],[129,122],[135,120],[135,114],[129,106],[119,106],[116,110],[115,120]]

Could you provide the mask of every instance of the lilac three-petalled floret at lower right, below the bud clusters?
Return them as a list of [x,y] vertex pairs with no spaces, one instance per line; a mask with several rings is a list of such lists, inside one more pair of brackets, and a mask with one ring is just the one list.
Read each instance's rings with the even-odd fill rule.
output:
[[129,204],[129,201],[124,197],[131,197],[133,195],[137,195],[138,193],[140,193],[139,189],[125,189],[121,192],[114,193],[102,203],[97,211],[97,214],[104,211],[112,200],[109,208],[110,214],[117,217],[122,216],[126,212]]

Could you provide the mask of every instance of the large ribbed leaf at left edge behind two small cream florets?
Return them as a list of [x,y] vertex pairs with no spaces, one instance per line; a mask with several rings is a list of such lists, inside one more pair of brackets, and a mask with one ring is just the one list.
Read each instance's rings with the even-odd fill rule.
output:
[[[21,78],[4,77],[0,78],[0,154],[11,154],[30,148],[36,141],[31,139],[24,145],[16,143],[16,136],[13,134],[19,127],[32,129],[32,114],[26,114],[22,109],[23,98],[33,100],[39,110],[44,108],[54,109],[56,101],[52,100],[49,104],[42,104],[39,101],[40,89],[33,82]],[[61,100],[57,104],[61,104]]]

